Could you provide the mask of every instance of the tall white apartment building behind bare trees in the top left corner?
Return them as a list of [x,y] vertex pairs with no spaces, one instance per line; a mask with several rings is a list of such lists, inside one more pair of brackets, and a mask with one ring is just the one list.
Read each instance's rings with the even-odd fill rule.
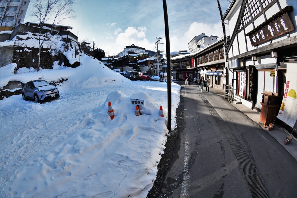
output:
[[30,0],[0,0],[0,26],[16,27],[23,23]]

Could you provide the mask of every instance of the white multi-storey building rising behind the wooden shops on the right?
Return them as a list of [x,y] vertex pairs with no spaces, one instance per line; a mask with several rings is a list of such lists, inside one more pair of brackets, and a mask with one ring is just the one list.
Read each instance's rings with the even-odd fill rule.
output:
[[199,36],[195,36],[189,43],[189,53],[195,53],[199,50],[203,49],[204,47],[213,44],[214,42],[218,41],[217,36],[206,36],[204,33],[200,34]]

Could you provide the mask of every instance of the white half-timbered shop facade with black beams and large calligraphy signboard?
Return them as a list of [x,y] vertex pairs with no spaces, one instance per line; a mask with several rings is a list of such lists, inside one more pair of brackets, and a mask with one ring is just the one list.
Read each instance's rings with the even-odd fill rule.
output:
[[290,72],[286,63],[297,61],[297,3],[233,0],[222,20],[230,32],[226,83],[235,100],[260,111],[263,91],[282,98]]

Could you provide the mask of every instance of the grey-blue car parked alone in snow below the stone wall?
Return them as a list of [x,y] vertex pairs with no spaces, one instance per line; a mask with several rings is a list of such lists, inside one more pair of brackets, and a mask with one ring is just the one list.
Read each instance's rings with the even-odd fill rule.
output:
[[45,102],[60,97],[56,86],[45,80],[32,80],[23,86],[23,100],[34,100],[35,102]]

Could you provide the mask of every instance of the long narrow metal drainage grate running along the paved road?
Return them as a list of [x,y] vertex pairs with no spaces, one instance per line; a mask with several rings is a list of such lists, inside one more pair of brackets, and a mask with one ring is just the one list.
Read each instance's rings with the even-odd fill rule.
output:
[[226,139],[228,140],[232,151],[234,152],[236,159],[238,160],[239,166],[244,173],[244,177],[247,180],[249,185],[249,189],[252,192],[253,198],[268,198],[268,192],[266,187],[260,178],[259,173],[257,172],[255,166],[253,165],[251,159],[247,155],[247,152],[242,147],[241,143],[238,141],[236,136],[233,134],[231,129],[227,126],[225,121],[223,121],[222,117],[217,113],[214,107],[208,102],[205,96],[201,96],[203,102],[208,107],[211,114],[217,120],[217,123],[225,135]]

